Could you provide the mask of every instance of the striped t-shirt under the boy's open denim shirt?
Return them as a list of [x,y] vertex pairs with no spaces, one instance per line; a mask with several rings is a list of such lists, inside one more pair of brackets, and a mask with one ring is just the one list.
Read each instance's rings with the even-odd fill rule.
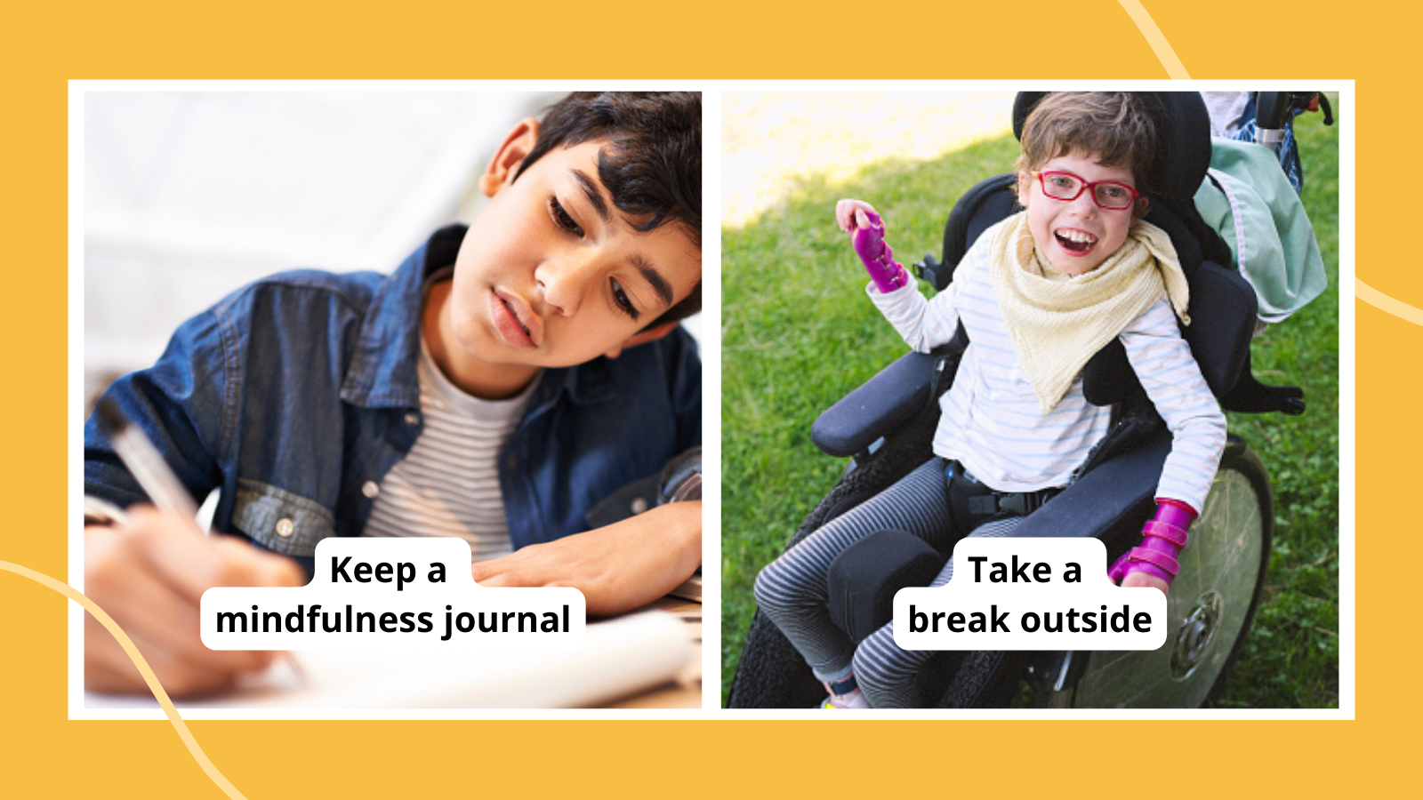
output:
[[475,561],[512,552],[497,461],[538,380],[509,400],[481,400],[450,383],[420,343],[424,428],[380,481],[367,537],[461,537]]

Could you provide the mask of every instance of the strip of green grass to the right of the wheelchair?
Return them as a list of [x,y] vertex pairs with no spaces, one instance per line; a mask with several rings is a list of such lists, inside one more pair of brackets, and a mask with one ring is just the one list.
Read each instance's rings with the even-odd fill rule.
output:
[[1231,414],[1275,485],[1275,542],[1255,625],[1224,707],[1339,705],[1339,147],[1301,118],[1302,199],[1329,290],[1272,326],[1252,350],[1261,380],[1303,387],[1301,417]]

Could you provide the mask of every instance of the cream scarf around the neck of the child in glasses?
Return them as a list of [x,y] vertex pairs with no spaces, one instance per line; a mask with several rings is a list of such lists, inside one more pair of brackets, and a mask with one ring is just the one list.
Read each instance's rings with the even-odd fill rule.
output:
[[1181,322],[1191,323],[1185,273],[1171,238],[1155,225],[1136,221],[1117,252],[1067,280],[1033,243],[1027,212],[988,233],[993,296],[1043,414],[1057,406],[1087,360],[1163,293]]

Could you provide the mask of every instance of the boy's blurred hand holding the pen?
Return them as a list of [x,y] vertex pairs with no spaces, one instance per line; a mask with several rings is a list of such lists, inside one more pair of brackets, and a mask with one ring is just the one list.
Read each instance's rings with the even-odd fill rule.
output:
[[[209,651],[199,638],[198,604],[211,586],[300,586],[302,568],[233,537],[196,537],[192,522],[151,507],[128,522],[84,530],[84,594],[108,612],[171,696],[231,686],[265,669],[275,652]],[[84,688],[147,692],[118,641],[84,616]]]

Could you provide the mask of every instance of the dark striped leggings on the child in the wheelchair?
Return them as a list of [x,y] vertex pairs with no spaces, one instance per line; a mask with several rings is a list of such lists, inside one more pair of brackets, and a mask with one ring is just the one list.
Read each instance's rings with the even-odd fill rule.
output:
[[[887,528],[914,534],[939,549],[963,534],[949,517],[948,481],[943,458],[931,458],[899,483],[827,522],[805,537],[756,577],[756,601],[766,615],[800,651],[821,680],[840,680],[851,673],[874,707],[918,707],[926,699],[919,670],[932,651],[905,651],[894,642],[894,622],[871,633],[857,648],[830,619],[825,581],[830,562],[861,538]],[[1009,535],[1022,517],[996,520],[969,535]],[[952,561],[933,586],[953,577]]]

